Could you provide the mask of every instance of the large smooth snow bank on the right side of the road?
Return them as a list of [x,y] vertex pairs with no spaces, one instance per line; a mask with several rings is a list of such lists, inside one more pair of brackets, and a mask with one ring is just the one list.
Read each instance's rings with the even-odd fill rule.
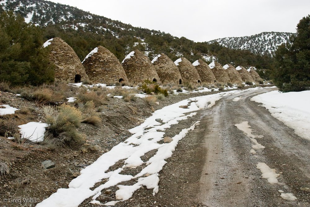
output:
[[273,117],[293,128],[300,137],[310,139],[310,91],[272,91],[252,97],[251,101],[263,103]]

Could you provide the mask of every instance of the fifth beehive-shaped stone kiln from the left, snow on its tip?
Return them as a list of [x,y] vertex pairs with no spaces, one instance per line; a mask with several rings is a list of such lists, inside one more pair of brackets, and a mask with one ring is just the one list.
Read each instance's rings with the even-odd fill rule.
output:
[[185,57],[177,59],[174,63],[178,66],[184,83],[201,83],[196,68]]

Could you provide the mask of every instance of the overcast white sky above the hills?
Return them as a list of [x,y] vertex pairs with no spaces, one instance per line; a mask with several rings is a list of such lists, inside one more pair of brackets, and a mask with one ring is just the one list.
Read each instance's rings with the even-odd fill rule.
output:
[[296,32],[310,0],[51,0],[135,27],[196,42],[261,32]]

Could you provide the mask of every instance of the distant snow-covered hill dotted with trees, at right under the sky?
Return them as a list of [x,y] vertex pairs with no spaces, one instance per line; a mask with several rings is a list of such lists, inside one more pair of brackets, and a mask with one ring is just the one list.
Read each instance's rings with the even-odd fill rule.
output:
[[262,32],[252,36],[215,39],[209,43],[218,42],[220,45],[231,49],[250,50],[253,53],[273,55],[279,45],[289,41],[292,34],[288,32]]

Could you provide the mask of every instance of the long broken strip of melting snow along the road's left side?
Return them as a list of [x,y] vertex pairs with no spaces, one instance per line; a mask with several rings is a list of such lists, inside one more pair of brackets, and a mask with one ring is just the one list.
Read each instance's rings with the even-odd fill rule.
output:
[[[183,129],[180,134],[173,137],[173,141],[170,142],[172,144],[159,144],[158,142],[164,137],[166,128],[170,128],[173,124],[178,124],[180,120],[185,120],[188,117],[196,115],[197,113],[194,111],[211,108],[222,97],[259,89],[261,87],[189,98],[156,110],[151,117],[145,119],[144,123],[129,130],[133,135],[126,139],[125,142],[114,146],[110,151],[101,155],[93,164],[83,169],[81,175],[69,183],[69,188],[58,189],[56,193],[43,200],[37,207],[77,207],[91,196],[93,196],[92,202],[98,203],[95,199],[100,196],[101,190],[133,178],[139,178],[145,174],[149,174],[149,176],[144,177],[144,179],[142,177],[139,178],[138,182],[133,186],[118,186],[117,198],[121,200],[129,199],[132,195],[131,192],[134,192],[141,185],[145,185],[147,188],[153,188],[153,195],[155,195],[158,192],[158,173],[166,164],[165,159],[172,155],[178,141],[185,137],[189,130],[193,130],[198,123],[195,123],[190,128]],[[188,108],[179,108],[179,106],[184,105],[187,105]],[[162,123],[157,122],[156,119],[161,119]],[[157,149],[157,153],[147,162],[141,160],[141,156],[155,149]],[[123,159],[126,160],[122,168],[108,171],[117,161]],[[135,168],[140,165],[144,168],[135,176],[119,174],[125,168]],[[106,178],[108,178],[107,182],[96,187],[94,190],[90,189],[97,182],[101,182],[102,179]],[[113,205],[116,202],[112,201],[106,205]]]

